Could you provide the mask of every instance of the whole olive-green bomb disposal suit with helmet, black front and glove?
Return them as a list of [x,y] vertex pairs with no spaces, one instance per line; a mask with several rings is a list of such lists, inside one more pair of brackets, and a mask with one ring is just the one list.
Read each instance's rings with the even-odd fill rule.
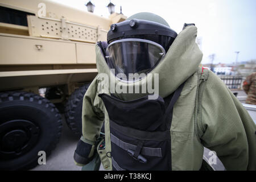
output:
[[256,169],[255,123],[220,78],[199,67],[196,36],[195,24],[177,35],[150,13],[112,24],[108,42],[96,45],[99,74],[83,100],[77,164],[98,148],[106,169],[199,170],[207,147],[228,170]]

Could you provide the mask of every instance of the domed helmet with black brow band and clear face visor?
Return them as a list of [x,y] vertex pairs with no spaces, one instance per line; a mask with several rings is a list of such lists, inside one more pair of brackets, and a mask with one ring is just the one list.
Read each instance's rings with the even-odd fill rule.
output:
[[177,33],[160,16],[152,13],[135,14],[110,26],[106,61],[120,80],[137,80],[134,73],[144,73],[142,75],[146,76],[152,71],[176,36]]

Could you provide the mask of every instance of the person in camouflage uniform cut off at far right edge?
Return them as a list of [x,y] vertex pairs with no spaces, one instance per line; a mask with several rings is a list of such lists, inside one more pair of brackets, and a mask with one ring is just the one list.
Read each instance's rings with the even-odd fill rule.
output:
[[256,72],[251,73],[243,81],[243,90],[247,94],[245,103],[256,105]]

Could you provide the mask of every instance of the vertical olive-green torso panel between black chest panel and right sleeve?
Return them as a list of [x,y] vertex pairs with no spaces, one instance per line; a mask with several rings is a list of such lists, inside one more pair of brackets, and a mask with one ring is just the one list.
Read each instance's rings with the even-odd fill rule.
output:
[[204,148],[197,135],[197,90],[201,68],[185,82],[176,101],[171,125],[172,170],[199,170]]

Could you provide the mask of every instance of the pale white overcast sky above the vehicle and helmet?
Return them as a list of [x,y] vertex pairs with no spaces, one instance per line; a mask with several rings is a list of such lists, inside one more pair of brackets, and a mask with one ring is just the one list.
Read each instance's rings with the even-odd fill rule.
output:
[[[83,0],[51,0],[87,10]],[[94,14],[108,17],[108,0],[92,0]],[[203,64],[232,64],[256,59],[256,1],[255,0],[112,0],[115,12],[129,17],[135,13],[150,12],[162,16],[179,34],[184,23],[195,23],[201,40]]]

